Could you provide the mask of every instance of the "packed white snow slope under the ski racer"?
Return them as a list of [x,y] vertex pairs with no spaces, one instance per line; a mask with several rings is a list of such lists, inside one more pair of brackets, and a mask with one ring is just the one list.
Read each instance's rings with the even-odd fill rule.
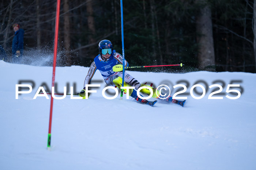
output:
[[[88,68],[57,67],[56,89],[83,88]],[[53,102],[52,143],[47,150],[50,99],[38,96],[52,82],[52,67],[0,61],[0,169],[1,170],[255,170],[256,74],[244,72],[189,72],[185,74],[127,72],[141,83],[187,86],[187,102],[157,102],[154,107],[120,96],[108,100],[99,71],[89,99]],[[33,91],[15,99],[15,84],[31,84]],[[207,88],[202,99],[190,94],[194,84]],[[223,86],[223,99],[208,99],[212,84]],[[241,92],[227,93],[227,84]],[[180,87],[178,87],[180,88]],[[215,90],[213,90],[216,88]],[[23,91],[27,91],[24,88]],[[181,88],[179,91],[183,90]],[[198,91],[198,94],[196,94]],[[113,93],[114,90],[109,90]],[[196,87],[195,96],[202,90]],[[50,95],[48,95],[50,98]],[[57,96],[57,95],[56,95]],[[109,96],[111,96],[109,94]],[[112,94],[113,96],[113,94]],[[153,100],[152,98],[150,100]]]

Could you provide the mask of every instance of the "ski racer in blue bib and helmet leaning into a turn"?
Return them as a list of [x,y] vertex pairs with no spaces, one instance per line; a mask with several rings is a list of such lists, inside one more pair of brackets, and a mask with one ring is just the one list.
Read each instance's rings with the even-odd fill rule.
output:
[[[91,66],[89,68],[88,74],[84,80],[84,88],[82,91],[80,91],[79,95],[83,98],[85,98],[85,90],[86,90],[86,84],[90,84],[91,79],[93,78],[93,75],[95,74],[96,70],[99,70],[101,73],[104,82],[108,86],[114,86],[120,88],[122,86],[122,77],[123,77],[123,71],[114,72],[113,66],[117,64],[123,64],[123,56],[117,53],[115,50],[113,50],[113,45],[109,40],[102,40],[99,42],[98,45],[99,54],[94,58],[93,63],[91,63]],[[125,60],[125,67],[128,67],[128,62]],[[129,96],[134,98],[140,103],[149,104],[150,106],[153,106],[157,100],[154,102],[149,102],[146,99],[140,99],[137,95],[137,90],[139,87],[147,86],[146,84],[141,84],[138,80],[136,80],[133,76],[128,74],[127,72],[124,72],[125,78],[124,78],[124,86],[133,86],[135,89],[129,90]],[[148,88],[151,88],[154,92],[153,98],[159,97],[159,91],[155,88],[152,88],[151,86],[147,86]],[[124,92],[126,93],[126,90],[124,89]],[[150,94],[150,91],[146,88],[143,88],[140,90],[140,92],[145,94]],[[88,93],[88,97],[90,96],[90,93]],[[172,101],[172,97],[169,96],[166,101]]]

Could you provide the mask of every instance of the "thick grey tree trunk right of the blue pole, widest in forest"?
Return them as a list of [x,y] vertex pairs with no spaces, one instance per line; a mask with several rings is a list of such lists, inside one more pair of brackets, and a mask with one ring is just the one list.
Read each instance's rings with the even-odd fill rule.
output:
[[[205,3],[206,0],[198,0],[199,3]],[[200,15],[196,20],[197,43],[199,43],[199,66],[206,69],[215,64],[214,43],[212,37],[211,9],[206,4],[200,9]],[[214,71],[215,68],[207,68],[208,71]]]

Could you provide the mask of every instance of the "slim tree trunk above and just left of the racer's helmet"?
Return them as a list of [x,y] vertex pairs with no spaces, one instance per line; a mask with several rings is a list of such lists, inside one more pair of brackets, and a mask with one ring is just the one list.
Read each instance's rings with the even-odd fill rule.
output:
[[91,4],[91,1],[87,1],[86,10],[88,13],[87,23],[88,23],[88,28],[90,30],[89,43],[92,44],[95,42],[93,35],[95,35],[96,31],[95,31],[95,26],[94,26],[93,5]]

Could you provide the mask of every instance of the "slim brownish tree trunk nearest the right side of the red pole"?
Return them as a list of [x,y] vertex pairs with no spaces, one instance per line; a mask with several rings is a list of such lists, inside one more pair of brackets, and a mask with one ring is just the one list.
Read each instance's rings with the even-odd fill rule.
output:
[[64,0],[63,12],[64,14],[64,47],[65,47],[65,62],[67,66],[71,66],[71,58],[70,58],[70,22],[69,22],[69,5],[68,0]]

